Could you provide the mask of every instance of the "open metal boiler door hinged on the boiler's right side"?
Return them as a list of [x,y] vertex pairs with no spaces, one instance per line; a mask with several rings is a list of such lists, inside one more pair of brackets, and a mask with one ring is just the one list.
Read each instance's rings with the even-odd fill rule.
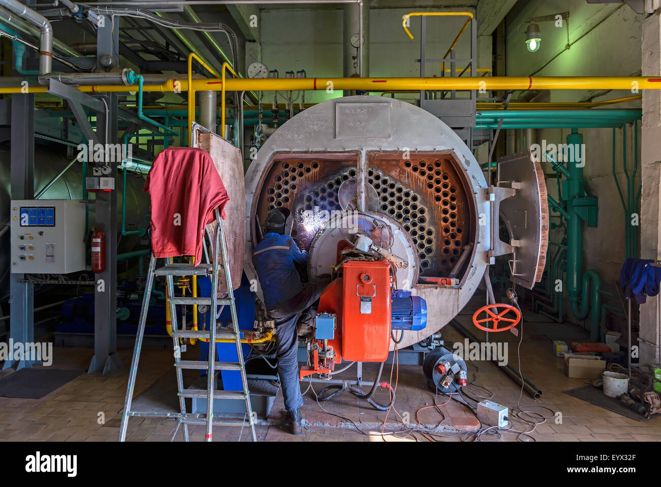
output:
[[549,246],[549,204],[539,161],[530,151],[498,159],[498,186],[516,186],[516,195],[500,202],[500,216],[514,241],[512,282],[532,289],[539,283]]

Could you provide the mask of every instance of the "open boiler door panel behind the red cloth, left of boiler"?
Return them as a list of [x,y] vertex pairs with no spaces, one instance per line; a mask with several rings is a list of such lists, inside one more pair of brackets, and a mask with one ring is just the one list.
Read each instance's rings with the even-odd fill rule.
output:
[[[194,124],[192,146],[205,150],[214,160],[215,168],[223,180],[229,201],[225,205],[225,240],[229,253],[229,269],[232,277],[232,287],[241,285],[243,273],[243,250],[245,246],[245,184],[243,179],[243,157],[238,148],[217,134],[212,134],[206,128]],[[212,224],[215,231],[216,224]],[[221,273],[218,292],[224,294],[227,290],[225,279]]]

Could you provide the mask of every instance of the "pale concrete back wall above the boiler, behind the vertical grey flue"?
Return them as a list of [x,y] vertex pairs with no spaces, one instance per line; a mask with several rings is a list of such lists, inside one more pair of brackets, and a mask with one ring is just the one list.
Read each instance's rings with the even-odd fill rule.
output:
[[[420,18],[410,19],[409,30],[414,36],[410,40],[402,28],[402,17],[414,11],[440,11],[438,8],[372,8],[369,11],[370,35],[368,39],[369,75],[417,76],[420,64]],[[457,9],[453,9],[457,10]],[[462,8],[461,11],[475,12]],[[285,71],[305,69],[307,77],[342,77],[342,9],[262,10],[262,62],[268,69],[278,69],[280,77]],[[429,18],[427,21],[428,58],[442,58],[459,33],[465,19],[448,17]],[[455,48],[457,57],[469,57],[469,32],[465,32]],[[449,69],[449,66],[446,66]],[[463,68],[463,66],[462,66]],[[440,65],[427,66],[428,75],[440,75]],[[305,101],[318,103],[342,92],[306,93]],[[406,99],[406,97],[401,97]],[[414,99],[415,95],[408,97]],[[272,101],[272,93],[265,93],[264,100]],[[281,100],[282,101],[282,100]]]

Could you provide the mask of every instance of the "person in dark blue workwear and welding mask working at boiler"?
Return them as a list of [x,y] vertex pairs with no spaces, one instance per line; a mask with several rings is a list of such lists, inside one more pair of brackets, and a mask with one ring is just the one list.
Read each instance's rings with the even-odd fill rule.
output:
[[303,432],[301,412],[303,396],[298,376],[298,332],[301,315],[309,319],[312,306],[331,282],[329,275],[307,284],[301,282],[296,265],[307,263],[307,252],[300,250],[286,234],[289,211],[274,208],[266,216],[266,233],[254,247],[253,264],[264,293],[264,305],[276,322],[276,358],[278,375],[287,410],[288,423],[294,435]]

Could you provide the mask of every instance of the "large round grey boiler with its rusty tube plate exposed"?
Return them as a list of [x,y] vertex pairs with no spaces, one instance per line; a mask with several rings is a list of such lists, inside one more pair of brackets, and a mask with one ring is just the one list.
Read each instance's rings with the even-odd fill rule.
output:
[[[483,279],[490,240],[486,180],[471,150],[436,116],[383,97],[343,97],[315,105],[282,125],[260,148],[246,175],[244,269],[266,214],[341,210],[339,187],[365,178],[368,213],[395,235],[408,260],[399,288],[426,300],[428,326],[405,333],[404,347],[440,330]],[[309,251],[308,272],[329,273],[342,232],[295,219],[292,237]],[[455,275],[457,280],[444,280]],[[258,296],[262,296],[258,289]],[[391,344],[392,346],[392,344]]]

